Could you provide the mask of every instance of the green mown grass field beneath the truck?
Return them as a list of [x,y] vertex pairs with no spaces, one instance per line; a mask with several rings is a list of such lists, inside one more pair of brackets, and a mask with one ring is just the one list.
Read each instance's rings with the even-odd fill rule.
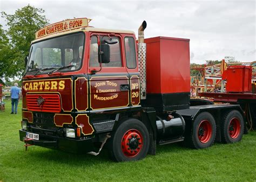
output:
[[11,115],[11,103],[0,111],[0,181],[255,181],[256,132],[239,143],[214,144],[193,150],[179,144],[157,147],[157,155],[138,162],[114,163],[99,156],[72,155],[19,141],[21,103]]

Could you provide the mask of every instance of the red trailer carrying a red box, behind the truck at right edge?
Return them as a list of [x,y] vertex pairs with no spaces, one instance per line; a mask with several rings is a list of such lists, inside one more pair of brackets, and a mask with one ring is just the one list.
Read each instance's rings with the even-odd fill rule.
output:
[[221,82],[225,85],[225,92],[201,92],[198,95],[212,97],[214,102],[239,104],[245,112],[248,129],[256,128],[256,93],[252,89],[255,88],[255,83],[252,83],[255,73],[252,66],[226,67],[224,63],[221,68]]

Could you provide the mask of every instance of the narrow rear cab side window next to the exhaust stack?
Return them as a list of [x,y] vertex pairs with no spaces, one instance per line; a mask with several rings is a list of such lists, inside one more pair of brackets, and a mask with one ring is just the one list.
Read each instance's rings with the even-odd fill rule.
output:
[[133,37],[124,38],[125,45],[125,59],[127,68],[136,68],[136,53],[135,43]]

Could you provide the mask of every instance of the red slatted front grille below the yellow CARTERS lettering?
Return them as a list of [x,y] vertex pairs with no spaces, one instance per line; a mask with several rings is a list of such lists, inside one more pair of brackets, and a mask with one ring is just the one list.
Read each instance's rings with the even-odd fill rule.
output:
[[60,97],[58,94],[28,94],[26,104],[29,111],[60,113]]

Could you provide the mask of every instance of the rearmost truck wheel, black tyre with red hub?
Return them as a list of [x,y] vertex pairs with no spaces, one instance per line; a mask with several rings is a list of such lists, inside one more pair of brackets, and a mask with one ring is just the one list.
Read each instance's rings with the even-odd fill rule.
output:
[[221,141],[223,143],[239,142],[244,133],[244,119],[238,110],[231,110],[224,115],[221,122]]

